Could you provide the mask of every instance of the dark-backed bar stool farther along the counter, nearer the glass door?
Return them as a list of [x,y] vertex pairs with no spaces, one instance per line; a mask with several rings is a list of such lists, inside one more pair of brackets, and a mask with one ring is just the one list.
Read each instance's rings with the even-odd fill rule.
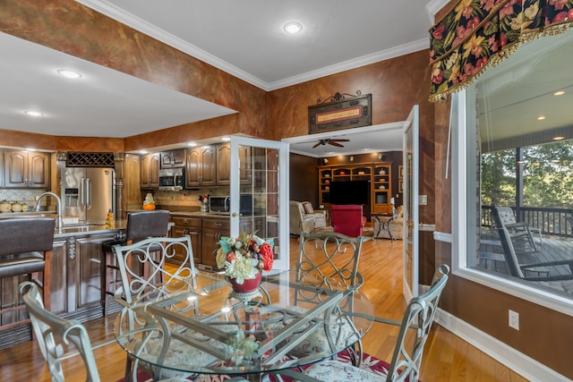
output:
[[[140,242],[148,237],[167,236],[169,228],[169,211],[156,209],[153,211],[138,211],[127,214],[125,238],[102,243],[102,250],[106,257],[106,267],[103,269],[104,285],[102,299],[104,301],[104,316],[107,316],[109,304],[117,286],[121,284],[119,267],[115,259],[114,245],[129,245]],[[143,270],[144,271],[144,270]],[[109,298],[111,296],[111,299]],[[110,301],[111,300],[111,301]]]

